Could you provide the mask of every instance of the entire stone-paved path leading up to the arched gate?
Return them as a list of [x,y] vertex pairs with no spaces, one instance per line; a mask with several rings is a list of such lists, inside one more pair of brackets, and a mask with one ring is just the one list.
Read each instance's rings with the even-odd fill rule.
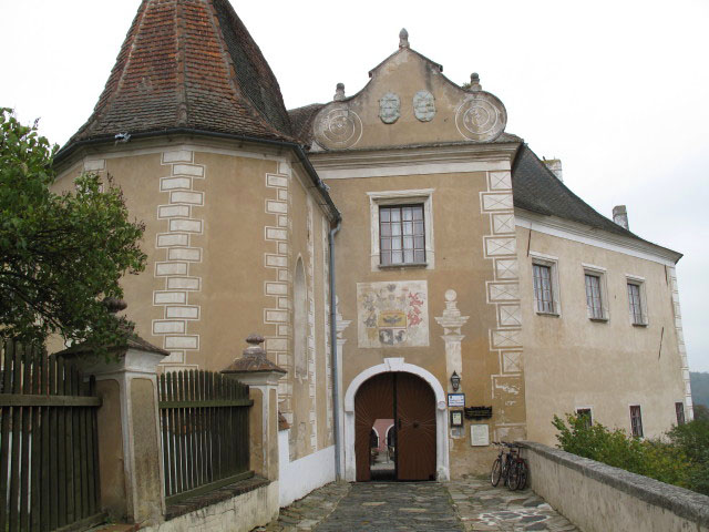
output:
[[532,490],[493,488],[487,480],[333,482],[280,511],[266,532],[578,532]]

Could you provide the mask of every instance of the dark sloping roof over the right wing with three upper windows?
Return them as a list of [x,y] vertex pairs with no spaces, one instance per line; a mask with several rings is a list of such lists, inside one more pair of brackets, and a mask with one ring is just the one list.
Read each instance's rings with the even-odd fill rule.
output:
[[677,253],[640,238],[596,212],[561,182],[526,144],[520,146],[512,166],[512,193],[515,207],[569,219]]

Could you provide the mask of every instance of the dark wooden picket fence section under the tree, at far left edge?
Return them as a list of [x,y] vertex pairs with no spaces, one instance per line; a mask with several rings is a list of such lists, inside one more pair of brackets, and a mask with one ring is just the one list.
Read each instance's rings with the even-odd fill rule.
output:
[[100,523],[94,380],[13,340],[0,370],[0,531]]

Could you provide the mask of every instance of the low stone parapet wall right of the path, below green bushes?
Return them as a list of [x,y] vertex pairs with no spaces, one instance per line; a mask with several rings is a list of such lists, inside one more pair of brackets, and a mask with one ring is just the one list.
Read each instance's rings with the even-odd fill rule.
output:
[[584,532],[709,532],[709,497],[535,442],[531,488]]

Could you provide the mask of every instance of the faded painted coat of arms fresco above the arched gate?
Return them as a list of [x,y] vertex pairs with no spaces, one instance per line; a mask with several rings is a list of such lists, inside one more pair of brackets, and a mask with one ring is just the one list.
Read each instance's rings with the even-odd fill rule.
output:
[[359,347],[429,345],[425,280],[357,284]]

